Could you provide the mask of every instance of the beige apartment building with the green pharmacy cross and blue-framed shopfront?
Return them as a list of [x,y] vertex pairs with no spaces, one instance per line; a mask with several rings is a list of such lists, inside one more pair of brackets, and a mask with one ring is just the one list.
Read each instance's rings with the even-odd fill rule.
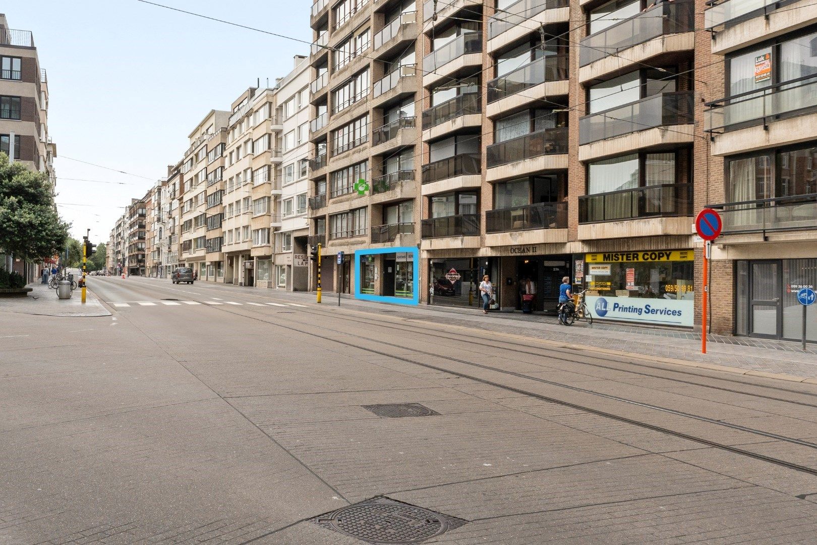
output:
[[324,291],[419,300],[420,7],[411,0],[312,6],[309,242],[325,257]]

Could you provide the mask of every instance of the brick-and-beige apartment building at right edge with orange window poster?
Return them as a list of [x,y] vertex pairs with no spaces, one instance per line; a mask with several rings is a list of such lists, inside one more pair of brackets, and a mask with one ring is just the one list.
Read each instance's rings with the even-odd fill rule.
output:
[[[695,203],[724,222],[712,248],[712,328],[800,340],[797,291],[817,285],[817,5],[698,7],[708,87],[696,114],[711,158],[695,164]],[[817,342],[815,306],[806,324]]]

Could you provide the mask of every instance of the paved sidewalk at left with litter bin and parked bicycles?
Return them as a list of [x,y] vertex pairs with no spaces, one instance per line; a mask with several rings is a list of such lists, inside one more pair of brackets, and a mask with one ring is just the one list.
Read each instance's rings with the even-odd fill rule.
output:
[[86,290],[85,304],[82,303],[82,290],[77,288],[70,299],[56,297],[56,289],[46,284],[35,282],[29,284],[33,292],[28,297],[11,297],[0,299],[0,312],[17,312],[42,316],[109,316],[110,312],[99,302],[90,289]]

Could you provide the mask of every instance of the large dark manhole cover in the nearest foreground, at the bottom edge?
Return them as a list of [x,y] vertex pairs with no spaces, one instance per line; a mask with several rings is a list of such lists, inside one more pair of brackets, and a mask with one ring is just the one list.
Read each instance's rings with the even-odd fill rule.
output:
[[313,520],[368,543],[420,543],[467,523],[390,498],[368,499]]

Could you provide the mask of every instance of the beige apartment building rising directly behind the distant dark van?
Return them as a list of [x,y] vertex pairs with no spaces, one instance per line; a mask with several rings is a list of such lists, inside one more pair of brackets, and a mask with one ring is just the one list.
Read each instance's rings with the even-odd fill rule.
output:
[[224,217],[224,149],[230,112],[212,109],[188,139],[179,173],[180,266],[201,280],[224,282],[221,222]]

